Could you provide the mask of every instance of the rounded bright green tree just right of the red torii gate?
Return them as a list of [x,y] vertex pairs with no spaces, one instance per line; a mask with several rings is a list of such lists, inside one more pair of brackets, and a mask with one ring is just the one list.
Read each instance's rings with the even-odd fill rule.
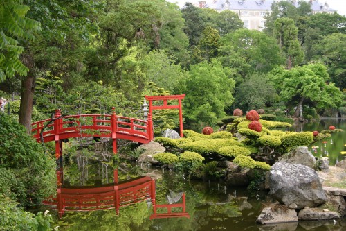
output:
[[186,94],[185,123],[188,126],[199,123],[211,126],[218,118],[224,117],[224,109],[233,103],[235,80],[230,78],[230,74],[230,69],[222,67],[217,60],[191,66],[183,89]]

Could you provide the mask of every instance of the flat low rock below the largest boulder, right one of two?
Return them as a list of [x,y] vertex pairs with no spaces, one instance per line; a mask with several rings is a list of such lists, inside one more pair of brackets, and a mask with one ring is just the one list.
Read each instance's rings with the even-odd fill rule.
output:
[[329,220],[339,219],[340,214],[331,212],[328,209],[304,207],[304,209],[300,210],[298,213],[298,218],[300,220]]

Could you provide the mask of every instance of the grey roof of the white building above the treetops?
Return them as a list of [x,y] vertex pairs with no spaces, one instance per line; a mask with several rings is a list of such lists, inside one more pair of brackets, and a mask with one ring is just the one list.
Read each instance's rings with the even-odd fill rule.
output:
[[[271,10],[271,4],[274,0],[211,0],[204,8],[211,8],[217,11],[222,10]],[[291,1],[295,6],[298,6],[298,1]],[[314,12],[336,11],[329,8],[327,3],[320,3],[316,0],[311,0],[311,9]]]

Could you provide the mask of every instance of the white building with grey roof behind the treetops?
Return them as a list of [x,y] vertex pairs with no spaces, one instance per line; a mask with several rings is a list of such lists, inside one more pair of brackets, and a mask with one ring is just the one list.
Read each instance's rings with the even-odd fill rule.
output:
[[[298,6],[297,0],[282,0],[290,1]],[[210,0],[199,1],[195,6],[199,8],[211,8],[221,12],[222,10],[231,10],[244,22],[244,27],[248,29],[262,30],[264,26],[264,16],[266,12],[271,12],[271,4],[273,0]],[[336,10],[329,8],[327,3],[320,3],[317,0],[309,0],[313,13],[328,12],[333,13]]]

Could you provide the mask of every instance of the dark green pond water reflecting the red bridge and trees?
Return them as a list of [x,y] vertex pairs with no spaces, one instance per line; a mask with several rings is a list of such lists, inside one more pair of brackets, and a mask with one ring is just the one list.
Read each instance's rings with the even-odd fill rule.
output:
[[[338,119],[323,119],[320,123],[300,124],[291,129],[320,131],[327,129],[330,125],[346,130],[345,121]],[[345,155],[340,154],[345,150],[345,139],[343,132],[334,133],[326,139],[327,143],[314,144],[319,148],[313,154],[318,157],[329,157],[330,164],[335,164],[336,161],[345,158]],[[78,197],[73,199],[73,206],[78,207],[78,203],[84,200],[89,206],[89,210],[94,209],[95,211],[77,212],[66,209],[59,218],[58,212],[48,208],[55,221],[53,227],[59,225],[59,230],[76,231],[346,230],[346,218],[337,221],[300,221],[260,225],[255,222],[257,216],[260,215],[264,205],[273,203],[272,198],[267,196],[267,191],[249,191],[245,187],[226,187],[222,181],[188,180],[181,173],[167,169],[164,171],[163,169],[150,169],[134,164],[134,162],[120,162],[118,168],[114,169],[113,165],[109,164],[111,154],[102,153],[102,156],[102,160],[91,160],[90,155],[89,157],[79,156],[75,159],[78,160],[78,164],[66,164],[64,169],[58,169],[57,175],[61,178],[63,188],[83,188],[77,190]],[[104,159],[104,156],[108,156],[108,160]],[[154,176],[152,178],[156,180],[138,178],[138,176]],[[152,185],[153,182],[154,185]],[[122,186],[126,184],[128,185]],[[126,198],[129,194],[125,195],[125,192],[121,191],[125,188],[128,189],[126,193],[131,193],[131,198],[136,198],[136,203],[126,203],[124,202],[126,199],[124,199],[120,201],[120,206],[117,208],[114,205],[115,200],[108,198],[107,201],[111,201],[111,203],[102,204],[102,201],[106,201],[102,190],[107,189],[107,193],[120,194],[120,198],[121,196]],[[88,196],[86,191],[89,189],[92,190],[92,193],[89,193]],[[70,193],[73,194],[71,191]],[[90,196],[91,194],[93,196]],[[70,206],[72,205],[70,204]],[[167,209],[167,207],[170,208]],[[105,209],[99,210],[98,208]],[[75,210],[83,210],[83,208],[79,207]]]

